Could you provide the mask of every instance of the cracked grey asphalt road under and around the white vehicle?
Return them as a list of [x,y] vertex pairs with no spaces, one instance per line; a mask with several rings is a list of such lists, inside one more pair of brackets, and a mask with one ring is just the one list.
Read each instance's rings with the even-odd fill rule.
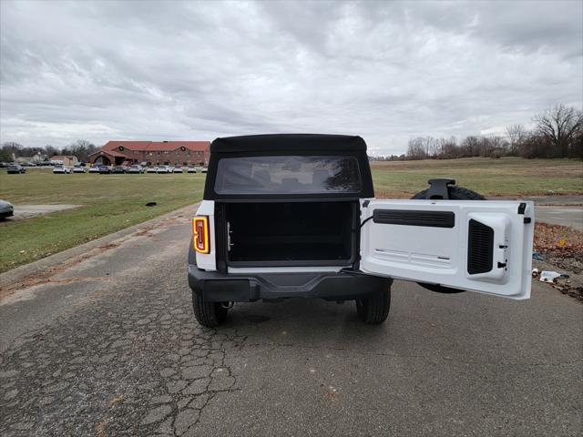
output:
[[0,435],[581,435],[578,301],[395,282],[380,327],[352,302],[288,300],[237,304],[207,330],[189,217],[4,294]]

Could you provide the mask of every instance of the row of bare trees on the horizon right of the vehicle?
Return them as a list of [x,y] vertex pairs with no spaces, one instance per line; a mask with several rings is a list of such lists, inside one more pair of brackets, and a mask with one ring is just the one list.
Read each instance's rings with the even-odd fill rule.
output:
[[404,159],[451,159],[515,156],[523,158],[583,158],[583,112],[556,105],[533,117],[534,127],[506,127],[505,136],[415,137]]

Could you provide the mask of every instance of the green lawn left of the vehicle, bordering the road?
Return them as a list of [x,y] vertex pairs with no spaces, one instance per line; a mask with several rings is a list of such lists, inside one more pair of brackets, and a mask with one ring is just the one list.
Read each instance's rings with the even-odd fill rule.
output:
[[[0,198],[13,204],[70,203],[81,208],[0,224],[0,272],[194,204],[203,174],[53,175],[0,173]],[[146,207],[149,201],[156,207]]]

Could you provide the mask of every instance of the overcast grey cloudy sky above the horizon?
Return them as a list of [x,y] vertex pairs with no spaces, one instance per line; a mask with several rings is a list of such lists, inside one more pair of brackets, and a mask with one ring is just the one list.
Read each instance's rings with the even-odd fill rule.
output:
[[583,100],[583,2],[0,2],[0,141],[502,133]]

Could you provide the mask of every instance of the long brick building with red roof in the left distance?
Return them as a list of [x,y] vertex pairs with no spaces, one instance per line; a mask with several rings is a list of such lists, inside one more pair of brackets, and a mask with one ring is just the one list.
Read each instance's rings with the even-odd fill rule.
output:
[[89,156],[93,164],[148,166],[207,166],[210,141],[107,141]]

